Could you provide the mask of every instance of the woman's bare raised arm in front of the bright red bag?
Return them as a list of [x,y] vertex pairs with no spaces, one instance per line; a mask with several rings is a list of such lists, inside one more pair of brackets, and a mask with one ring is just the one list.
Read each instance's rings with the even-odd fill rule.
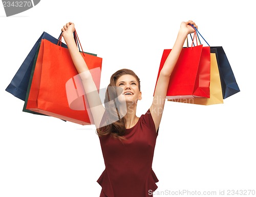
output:
[[193,27],[189,26],[193,24],[195,28],[197,28],[195,22],[189,20],[187,22],[182,22],[180,26],[180,30],[178,32],[177,39],[172,48],[172,51],[168,55],[163,68],[160,71],[159,78],[157,81],[155,95],[153,99],[153,104],[150,107],[150,111],[155,122],[156,131],[159,128],[160,121],[162,118],[162,112],[164,108],[164,103],[166,99],[167,88],[169,84],[170,75],[172,75],[173,69],[178,61],[180,56],[184,41],[188,34],[195,32]]

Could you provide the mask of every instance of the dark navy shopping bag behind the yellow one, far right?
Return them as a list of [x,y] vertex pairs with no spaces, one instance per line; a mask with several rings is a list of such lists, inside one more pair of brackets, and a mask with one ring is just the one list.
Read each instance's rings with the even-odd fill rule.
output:
[[227,97],[240,92],[240,89],[238,87],[236,78],[234,77],[234,73],[227,59],[227,56],[223,50],[223,47],[211,46],[210,48],[216,49],[214,51],[216,53],[219,71],[220,71],[222,94],[223,94],[223,99],[226,99]]

